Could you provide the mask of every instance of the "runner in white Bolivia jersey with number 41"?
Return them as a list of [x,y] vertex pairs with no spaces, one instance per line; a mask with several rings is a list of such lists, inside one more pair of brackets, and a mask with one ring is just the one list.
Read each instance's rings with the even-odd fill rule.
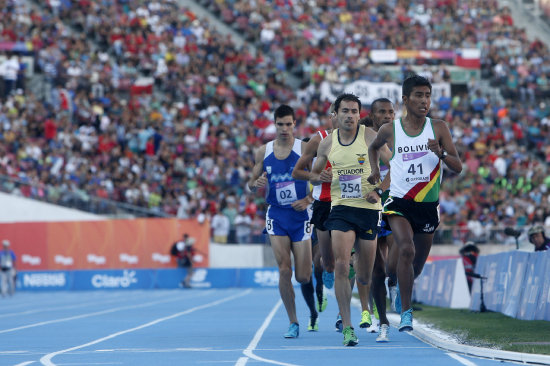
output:
[[[399,251],[397,282],[400,295],[399,331],[412,330],[412,287],[422,272],[439,225],[439,187],[444,162],[455,173],[462,162],[445,121],[428,118],[432,85],[413,75],[403,82],[403,104],[407,115],[380,129],[369,147],[371,182],[380,179],[379,149],[386,143],[393,151],[390,160],[390,197],[383,212]],[[396,299],[397,300],[397,299]]]

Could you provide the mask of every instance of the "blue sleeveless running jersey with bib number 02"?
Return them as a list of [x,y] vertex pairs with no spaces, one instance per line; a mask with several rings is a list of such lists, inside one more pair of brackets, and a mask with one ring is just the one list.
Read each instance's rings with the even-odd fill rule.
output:
[[266,202],[270,206],[291,208],[290,204],[308,194],[308,182],[292,178],[292,170],[302,155],[302,140],[294,139],[292,151],[284,160],[279,160],[273,152],[273,141],[267,143],[263,170],[267,172]]

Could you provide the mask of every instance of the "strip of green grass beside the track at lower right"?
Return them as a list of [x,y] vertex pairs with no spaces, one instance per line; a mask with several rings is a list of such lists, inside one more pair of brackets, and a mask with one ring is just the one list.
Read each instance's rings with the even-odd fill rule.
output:
[[[550,355],[550,321],[414,304],[414,318],[471,346]],[[389,309],[389,306],[388,306]]]

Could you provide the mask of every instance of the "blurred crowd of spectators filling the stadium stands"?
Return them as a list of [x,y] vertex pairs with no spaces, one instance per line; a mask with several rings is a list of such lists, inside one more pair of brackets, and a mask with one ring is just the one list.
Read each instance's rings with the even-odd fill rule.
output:
[[[0,2],[0,44],[32,44],[41,76],[34,88],[21,71],[14,79],[7,70],[22,59],[4,47],[0,175],[13,180],[3,189],[181,218],[221,212],[257,241],[265,203],[243,188],[254,149],[273,136],[274,107],[295,107],[296,135],[307,137],[328,122],[322,81],[392,81],[369,50],[479,48],[481,75],[504,98],[474,80],[432,101],[467,167],[443,183],[443,224],[458,228],[445,240],[550,226],[550,53],[496,0],[202,3],[257,52],[169,0]],[[444,64],[417,62],[448,80]]]

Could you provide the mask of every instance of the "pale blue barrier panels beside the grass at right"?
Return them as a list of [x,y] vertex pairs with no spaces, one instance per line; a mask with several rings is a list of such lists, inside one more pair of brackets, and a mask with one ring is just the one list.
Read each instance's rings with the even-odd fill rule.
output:
[[[550,252],[506,252],[478,258],[485,306],[523,320],[550,320]],[[471,310],[481,305],[480,280],[474,280]]]

